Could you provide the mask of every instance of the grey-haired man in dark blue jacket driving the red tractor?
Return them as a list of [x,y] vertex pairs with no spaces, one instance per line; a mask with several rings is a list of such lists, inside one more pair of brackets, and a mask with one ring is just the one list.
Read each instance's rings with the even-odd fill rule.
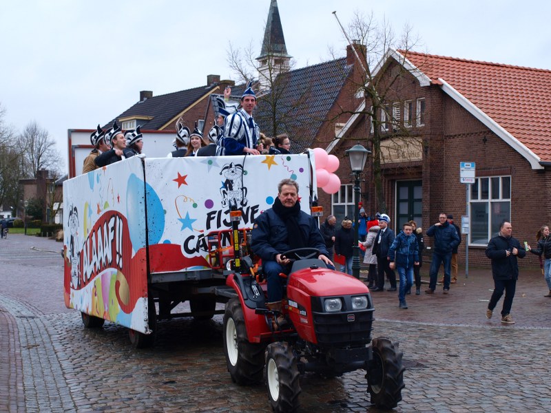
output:
[[[329,268],[329,252],[314,218],[300,209],[298,183],[284,179],[278,184],[278,198],[273,207],[256,218],[253,226],[251,248],[262,258],[262,269],[268,282],[270,310],[281,311],[284,279],[280,273],[289,274],[291,260],[282,253],[295,248],[318,248],[318,257]],[[278,323],[284,323],[282,316]]]

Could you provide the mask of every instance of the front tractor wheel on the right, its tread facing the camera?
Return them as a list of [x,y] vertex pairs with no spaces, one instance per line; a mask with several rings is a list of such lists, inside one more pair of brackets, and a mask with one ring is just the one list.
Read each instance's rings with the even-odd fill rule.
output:
[[371,403],[380,409],[393,409],[402,400],[404,388],[402,352],[384,337],[373,339],[373,360],[367,374]]

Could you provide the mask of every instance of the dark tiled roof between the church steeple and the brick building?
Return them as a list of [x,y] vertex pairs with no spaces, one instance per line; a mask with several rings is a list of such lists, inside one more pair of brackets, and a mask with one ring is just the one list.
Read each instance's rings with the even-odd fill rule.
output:
[[[287,132],[291,136],[294,153],[312,145],[351,71],[352,66],[346,65],[346,58],[342,58],[278,76],[268,94],[277,94],[278,134]],[[260,131],[269,136],[272,115],[267,95],[258,98],[254,117]]]

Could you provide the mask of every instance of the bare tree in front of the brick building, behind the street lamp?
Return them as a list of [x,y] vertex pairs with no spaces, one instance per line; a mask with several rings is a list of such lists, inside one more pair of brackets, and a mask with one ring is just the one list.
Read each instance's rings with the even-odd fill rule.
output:
[[[407,25],[402,35],[397,37],[388,21],[377,23],[373,12],[367,16],[355,12],[345,34],[348,39],[355,39],[354,43],[360,45],[356,50],[360,58],[358,63],[362,64],[362,76],[361,82],[354,89],[363,92],[365,102],[352,112],[341,113],[363,116],[366,120],[364,124],[367,130],[360,131],[360,134],[373,153],[372,171],[377,209],[386,212],[388,208],[384,198],[381,169],[385,160],[382,142],[388,147],[388,142],[404,142],[404,138],[412,135],[409,125],[400,120],[404,107],[400,100],[400,91],[410,82],[409,75],[412,72],[404,63],[408,52],[419,46],[419,39],[412,38],[412,30]],[[369,137],[366,139],[364,136]],[[355,136],[349,138],[362,139]]]

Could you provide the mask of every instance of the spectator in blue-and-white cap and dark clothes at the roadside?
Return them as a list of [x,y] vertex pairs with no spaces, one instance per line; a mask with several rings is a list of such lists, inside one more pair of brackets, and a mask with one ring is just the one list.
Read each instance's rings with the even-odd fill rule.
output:
[[388,291],[396,290],[396,274],[390,266],[391,262],[388,260],[388,248],[391,248],[396,237],[394,231],[388,227],[390,222],[391,218],[386,213],[380,215],[380,230],[377,232],[377,237],[375,237],[375,241],[373,242],[373,253],[377,256],[377,286],[371,292],[384,291],[385,274],[388,282],[391,283],[391,288],[388,288]]

